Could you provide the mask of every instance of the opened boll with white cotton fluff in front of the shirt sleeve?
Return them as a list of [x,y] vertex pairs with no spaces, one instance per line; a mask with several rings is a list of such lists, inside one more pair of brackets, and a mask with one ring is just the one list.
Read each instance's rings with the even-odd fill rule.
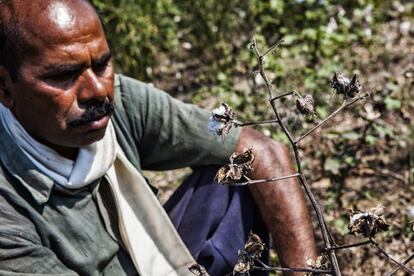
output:
[[220,107],[211,112],[208,131],[219,136],[226,136],[233,127],[233,121],[233,110],[226,103],[222,103]]

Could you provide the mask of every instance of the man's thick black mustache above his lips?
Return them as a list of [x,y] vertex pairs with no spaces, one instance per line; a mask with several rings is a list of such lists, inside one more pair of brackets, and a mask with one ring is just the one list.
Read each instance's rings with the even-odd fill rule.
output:
[[78,127],[89,122],[97,121],[114,112],[114,104],[109,101],[91,104],[79,119],[68,122],[69,127]]

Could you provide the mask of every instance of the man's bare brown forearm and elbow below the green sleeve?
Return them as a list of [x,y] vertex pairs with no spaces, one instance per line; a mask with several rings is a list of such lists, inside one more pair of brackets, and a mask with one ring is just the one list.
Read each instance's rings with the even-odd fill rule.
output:
[[[286,146],[249,128],[242,130],[236,151],[253,147],[256,157],[253,179],[293,174]],[[306,267],[306,260],[317,256],[312,225],[303,193],[296,178],[250,185],[252,196],[275,243],[285,267]]]

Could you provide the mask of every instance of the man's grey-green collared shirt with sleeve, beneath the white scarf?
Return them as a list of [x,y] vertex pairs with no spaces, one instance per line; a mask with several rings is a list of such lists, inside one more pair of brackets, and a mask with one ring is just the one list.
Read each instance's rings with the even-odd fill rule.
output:
[[[116,76],[115,105],[118,142],[138,170],[225,163],[240,133],[223,143],[207,132],[208,112],[123,76]],[[105,178],[66,190],[1,125],[0,141],[0,275],[136,274],[114,227]]]

